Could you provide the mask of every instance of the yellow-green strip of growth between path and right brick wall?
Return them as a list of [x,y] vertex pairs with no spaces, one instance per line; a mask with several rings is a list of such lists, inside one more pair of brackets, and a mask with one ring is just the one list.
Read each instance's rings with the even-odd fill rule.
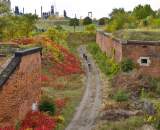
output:
[[119,72],[119,65],[112,58],[107,57],[95,42],[89,43],[87,50],[92,54],[99,68],[105,75],[112,77]]

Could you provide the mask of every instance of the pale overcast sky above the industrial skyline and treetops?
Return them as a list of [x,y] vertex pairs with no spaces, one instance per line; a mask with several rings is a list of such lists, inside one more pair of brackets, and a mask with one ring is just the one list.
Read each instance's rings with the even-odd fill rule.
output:
[[94,18],[108,16],[113,8],[125,8],[132,10],[138,4],[150,4],[153,9],[160,8],[160,0],[11,0],[12,9],[15,5],[19,6],[25,12],[34,13],[35,9],[40,14],[40,7],[43,6],[43,11],[49,11],[50,5],[55,5],[56,11],[63,14],[63,10],[67,11],[69,17],[85,17],[88,12],[93,12]]

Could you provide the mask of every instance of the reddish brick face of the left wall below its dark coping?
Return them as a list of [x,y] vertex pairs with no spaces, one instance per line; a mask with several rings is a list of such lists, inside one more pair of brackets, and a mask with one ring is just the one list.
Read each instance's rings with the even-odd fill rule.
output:
[[31,110],[41,94],[40,52],[21,57],[14,73],[0,90],[0,126],[14,124]]

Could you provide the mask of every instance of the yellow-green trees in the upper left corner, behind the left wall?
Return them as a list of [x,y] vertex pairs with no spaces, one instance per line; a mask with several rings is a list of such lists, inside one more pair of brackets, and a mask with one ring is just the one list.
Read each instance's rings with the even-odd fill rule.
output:
[[0,3],[0,40],[28,37],[36,28],[38,16],[32,14],[15,15]]

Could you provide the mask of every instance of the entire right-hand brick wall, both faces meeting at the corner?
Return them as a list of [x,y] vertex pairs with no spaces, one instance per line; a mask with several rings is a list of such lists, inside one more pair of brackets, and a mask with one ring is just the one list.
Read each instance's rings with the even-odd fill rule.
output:
[[[107,56],[114,57],[117,62],[122,61],[123,58],[132,59],[142,74],[160,77],[160,43],[122,41],[104,32],[97,32],[96,42]],[[140,66],[138,63],[140,57],[149,57],[151,64]]]

